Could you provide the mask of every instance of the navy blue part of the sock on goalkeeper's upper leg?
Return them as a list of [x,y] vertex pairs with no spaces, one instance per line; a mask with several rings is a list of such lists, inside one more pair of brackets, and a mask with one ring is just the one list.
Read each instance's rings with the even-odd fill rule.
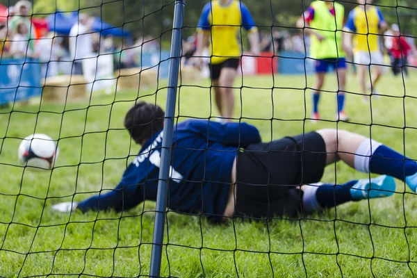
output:
[[417,163],[384,145],[375,149],[370,157],[369,170],[375,174],[386,174],[402,181],[417,173]]

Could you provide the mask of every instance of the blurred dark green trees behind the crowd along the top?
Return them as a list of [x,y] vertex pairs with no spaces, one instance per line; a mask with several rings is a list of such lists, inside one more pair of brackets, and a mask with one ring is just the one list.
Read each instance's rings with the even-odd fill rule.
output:
[[[17,0],[0,0],[6,6]],[[256,24],[264,30],[272,26],[281,31],[297,32],[295,22],[312,0],[243,0],[250,9]],[[207,0],[186,0],[184,18],[184,35],[195,31],[199,15]],[[356,6],[356,0],[345,0],[346,16]],[[416,0],[374,0],[379,5],[389,24],[397,23],[403,33],[417,36],[417,1]],[[123,26],[136,36],[161,36],[162,40],[170,38],[174,0],[35,0],[33,11],[40,16],[59,10],[80,10],[102,17],[104,21]]]

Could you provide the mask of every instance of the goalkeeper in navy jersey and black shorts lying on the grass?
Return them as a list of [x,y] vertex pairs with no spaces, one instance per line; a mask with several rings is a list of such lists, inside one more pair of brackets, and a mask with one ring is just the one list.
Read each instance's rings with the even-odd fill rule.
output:
[[[164,116],[155,104],[133,106],[124,126],[142,149],[119,185],[79,204],[54,208],[126,211],[144,200],[156,200]],[[359,172],[384,176],[337,186],[318,183],[326,165],[340,160]],[[259,131],[250,124],[186,120],[174,128],[171,165],[167,206],[202,213],[215,222],[234,215],[296,215],[390,196],[395,191],[392,177],[405,181],[414,192],[417,187],[415,161],[375,140],[334,129],[261,143]]]

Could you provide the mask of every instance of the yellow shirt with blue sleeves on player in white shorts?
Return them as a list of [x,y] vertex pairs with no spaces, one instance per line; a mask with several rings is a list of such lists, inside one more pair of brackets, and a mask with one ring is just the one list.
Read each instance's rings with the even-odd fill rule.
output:
[[354,32],[354,52],[379,51],[379,27],[385,22],[381,10],[375,6],[357,6],[349,13],[345,27]]

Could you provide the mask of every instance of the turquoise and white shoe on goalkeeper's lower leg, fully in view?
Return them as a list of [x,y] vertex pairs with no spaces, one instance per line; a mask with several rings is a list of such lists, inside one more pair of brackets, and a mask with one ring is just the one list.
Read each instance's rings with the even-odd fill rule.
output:
[[353,199],[372,199],[389,197],[395,192],[395,180],[390,176],[379,176],[373,179],[359,179],[350,188]]

